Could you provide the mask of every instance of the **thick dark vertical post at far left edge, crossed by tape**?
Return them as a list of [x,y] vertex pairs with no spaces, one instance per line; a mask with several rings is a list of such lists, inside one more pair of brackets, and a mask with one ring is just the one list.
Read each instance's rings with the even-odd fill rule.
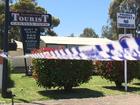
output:
[[[9,0],[5,0],[5,28],[3,36],[3,51],[8,56],[8,27],[9,26]],[[10,98],[11,92],[8,88],[8,60],[3,58],[3,76],[2,76],[2,97]]]

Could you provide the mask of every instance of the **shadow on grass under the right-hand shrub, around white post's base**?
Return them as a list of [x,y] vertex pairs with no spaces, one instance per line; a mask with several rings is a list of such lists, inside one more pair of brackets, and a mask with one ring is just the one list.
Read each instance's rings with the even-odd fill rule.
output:
[[[110,90],[118,90],[118,91],[125,91],[125,87],[122,86],[121,88],[117,88],[116,86],[104,86],[103,88],[110,89]],[[140,87],[129,87],[128,92],[140,91]]]

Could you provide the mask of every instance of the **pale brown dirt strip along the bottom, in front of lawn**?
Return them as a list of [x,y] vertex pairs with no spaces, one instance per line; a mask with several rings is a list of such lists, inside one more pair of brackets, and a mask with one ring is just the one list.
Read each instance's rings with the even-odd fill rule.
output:
[[126,94],[98,98],[60,99],[15,105],[140,105],[140,95]]

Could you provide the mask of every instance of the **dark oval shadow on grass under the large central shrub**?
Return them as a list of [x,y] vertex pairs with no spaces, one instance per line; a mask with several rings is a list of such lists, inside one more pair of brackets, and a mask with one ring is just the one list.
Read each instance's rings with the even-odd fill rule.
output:
[[94,91],[86,88],[76,88],[71,92],[65,92],[64,90],[46,90],[38,91],[38,93],[51,99],[93,98],[104,96],[103,93],[99,91]]

